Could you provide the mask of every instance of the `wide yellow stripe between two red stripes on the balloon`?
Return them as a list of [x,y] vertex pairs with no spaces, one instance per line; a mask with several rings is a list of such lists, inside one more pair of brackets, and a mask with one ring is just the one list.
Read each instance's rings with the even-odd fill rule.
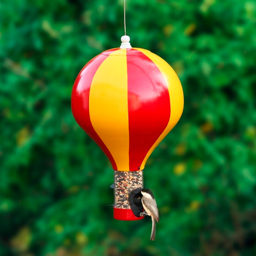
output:
[[127,61],[124,50],[111,53],[102,62],[93,77],[89,96],[92,126],[115,159],[118,171],[129,171]]

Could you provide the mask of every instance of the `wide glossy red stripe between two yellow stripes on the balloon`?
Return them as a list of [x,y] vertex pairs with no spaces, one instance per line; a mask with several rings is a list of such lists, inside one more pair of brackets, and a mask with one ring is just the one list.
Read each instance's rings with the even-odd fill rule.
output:
[[165,79],[145,54],[127,56],[127,73],[130,170],[135,171],[168,124],[171,107]]

